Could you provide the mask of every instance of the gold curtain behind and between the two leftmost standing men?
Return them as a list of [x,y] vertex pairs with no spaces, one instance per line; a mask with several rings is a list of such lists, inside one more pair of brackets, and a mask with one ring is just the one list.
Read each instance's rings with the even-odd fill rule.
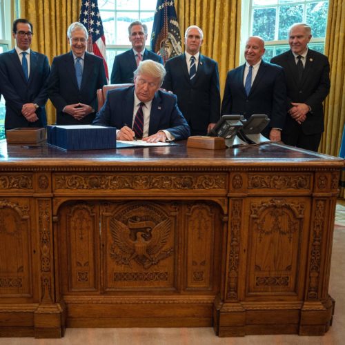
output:
[[[31,21],[34,27],[32,50],[47,55],[50,64],[53,57],[68,52],[67,29],[79,20],[80,8],[81,0],[21,0],[21,18]],[[50,101],[46,110],[48,124],[55,123],[55,108]]]

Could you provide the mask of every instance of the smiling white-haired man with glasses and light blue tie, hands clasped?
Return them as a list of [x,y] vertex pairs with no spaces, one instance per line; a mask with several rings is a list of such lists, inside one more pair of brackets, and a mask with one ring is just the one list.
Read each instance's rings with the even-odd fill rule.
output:
[[97,109],[97,89],[106,85],[100,57],[86,52],[88,30],[75,22],[67,30],[71,51],[55,57],[48,95],[57,109],[58,125],[91,124]]

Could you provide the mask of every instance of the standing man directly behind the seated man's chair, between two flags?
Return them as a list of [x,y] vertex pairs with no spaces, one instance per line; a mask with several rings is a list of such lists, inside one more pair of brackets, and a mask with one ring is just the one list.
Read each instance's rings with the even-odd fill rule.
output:
[[110,83],[132,83],[133,72],[137,69],[140,61],[153,60],[163,64],[161,56],[145,48],[148,38],[148,28],[140,21],[133,21],[128,26],[128,39],[132,43],[132,49],[115,57],[110,77]]

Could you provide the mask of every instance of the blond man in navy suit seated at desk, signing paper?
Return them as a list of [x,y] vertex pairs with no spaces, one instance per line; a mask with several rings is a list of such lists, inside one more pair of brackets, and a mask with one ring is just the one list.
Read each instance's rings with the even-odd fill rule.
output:
[[190,128],[177,107],[177,97],[159,90],[165,75],[161,63],[141,61],[134,72],[134,86],[109,90],[92,124],[118,128],[118,140],[187,139]]

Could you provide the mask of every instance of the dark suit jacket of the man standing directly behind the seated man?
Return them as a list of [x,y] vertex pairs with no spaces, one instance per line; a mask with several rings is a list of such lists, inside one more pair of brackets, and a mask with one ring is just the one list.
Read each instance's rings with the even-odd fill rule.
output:
[[[143,60],[153,60],[163,65],[163,59],[155,52],[145,49]],[[132,49],[123,52],[115,57],[114,64],[112,65],[112,72],[110,83],[132,83],[133,72],[137,69],[137,61]]]

